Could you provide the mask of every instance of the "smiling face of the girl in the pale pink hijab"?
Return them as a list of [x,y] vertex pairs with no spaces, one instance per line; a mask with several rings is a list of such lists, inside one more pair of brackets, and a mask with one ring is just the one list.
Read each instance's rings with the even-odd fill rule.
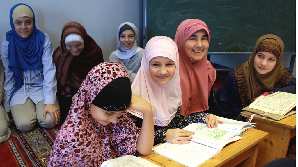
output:
[[150,77],[159,85],[167,84],[175,75],[176,65],[173,60],[156,56],[149,62]]

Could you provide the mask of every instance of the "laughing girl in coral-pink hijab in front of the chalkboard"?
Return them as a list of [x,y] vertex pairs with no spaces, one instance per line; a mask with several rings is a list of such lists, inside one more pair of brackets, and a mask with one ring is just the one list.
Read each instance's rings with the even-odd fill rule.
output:
[[[205,111],[217,113],[212,85],[216,71],[207,60],[210,31],[201,20],[184,20],[177,28],[175,42],[178,46],[180,84],[183,116]],[[209,108],[214,107],[214,108]]]

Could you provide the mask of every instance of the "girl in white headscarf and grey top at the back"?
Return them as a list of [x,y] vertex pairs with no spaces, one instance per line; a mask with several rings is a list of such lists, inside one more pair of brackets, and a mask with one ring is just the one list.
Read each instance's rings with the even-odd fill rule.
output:
[[110,62],[119,63],[127,71],[131,83],[139,71],[144,49],[136,45],[138,29],[133,23],[120,24],[117,31],[118,49],[111,53]]

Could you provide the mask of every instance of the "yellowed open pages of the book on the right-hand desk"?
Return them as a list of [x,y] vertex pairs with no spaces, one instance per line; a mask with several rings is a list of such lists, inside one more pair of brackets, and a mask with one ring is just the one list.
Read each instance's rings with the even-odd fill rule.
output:
[[296,94],[275,92],[260,96],[248,107],[273,114],[285,115],[296,106]]

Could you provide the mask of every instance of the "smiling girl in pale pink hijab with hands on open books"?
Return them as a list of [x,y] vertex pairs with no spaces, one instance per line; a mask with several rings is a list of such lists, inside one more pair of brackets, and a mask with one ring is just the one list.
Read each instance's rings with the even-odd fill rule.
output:
[[[193,122],[206,122],[208,127],[218,125],[213,114],[195,113],[187,117],[180,114],[181,88],[179,54],[176,43],[169,37],[156,36],[145,47],[141,67],[131,85],[132,92],[147,100],[153,108],[154,144],[170,142],[187,144],[193,132],[183,130]],[[138,127],[143,114],[129,110]]]

